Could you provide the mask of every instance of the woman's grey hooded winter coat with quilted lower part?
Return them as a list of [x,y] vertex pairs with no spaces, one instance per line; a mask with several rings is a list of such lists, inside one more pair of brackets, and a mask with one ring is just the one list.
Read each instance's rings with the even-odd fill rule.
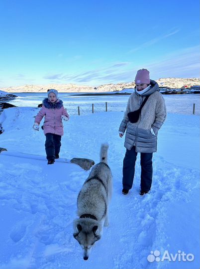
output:
[[[119,127],[119,133],[124,134],[126,130],[124,146],[130,150],[135,146],[136,152],[156,152],[157,134],[166,118],[165,100],[159,93],[158,83],[151,80],[151,88],[143,95],[139,95],[136,90],[128,99],[124,118]],[[146,104],[142,108],[137,123],[131,123],[128,120],[129,112],[138,110],[146,96],[149,96]],[[151,128],[154,134],[151,134]]]

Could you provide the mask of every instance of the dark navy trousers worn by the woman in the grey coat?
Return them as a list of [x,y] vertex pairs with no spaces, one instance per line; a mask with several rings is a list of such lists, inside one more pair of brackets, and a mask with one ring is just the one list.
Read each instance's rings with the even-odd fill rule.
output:
[[[141,182],[140,187],[142,191],[149,191],[152,184],[153,165],[152,165],[153,153],[140,153],[140,165],[141,165]],[[133,178],[135,174],[135,162],[137,158],[137,152],[135,152],[135,146],[131,150],[126,149],[126,154],[123,160],[123,188],[131,189],[133,185]]]

